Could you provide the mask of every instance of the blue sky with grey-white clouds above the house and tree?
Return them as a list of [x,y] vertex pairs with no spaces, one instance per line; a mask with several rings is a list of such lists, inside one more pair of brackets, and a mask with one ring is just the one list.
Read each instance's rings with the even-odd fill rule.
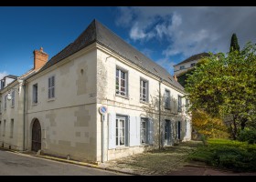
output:
[[173,66],[202,52],[229,51],[256,42],[256,7],[247,6],[1,6],[0,79],[33,68],[33,51],[49,58],[96,18],[174,74]]

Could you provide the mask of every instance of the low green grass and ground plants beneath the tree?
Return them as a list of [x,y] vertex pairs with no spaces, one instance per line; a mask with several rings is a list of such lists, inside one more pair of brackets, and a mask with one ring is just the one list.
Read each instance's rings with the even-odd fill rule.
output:
[[236,172],[256,171],[256,145],[227,139],[209,139],[207,146],[197,147],[188,155],[188,159]]

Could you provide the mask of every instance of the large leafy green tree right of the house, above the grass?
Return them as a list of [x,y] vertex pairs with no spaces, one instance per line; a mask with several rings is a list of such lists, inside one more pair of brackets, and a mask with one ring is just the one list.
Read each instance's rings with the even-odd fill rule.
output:
[[256,122],[256,45],[248,43],[240,52],[211,54],[200,64],[185,86],[191,109],[225,118],[236,139],[239,128]]

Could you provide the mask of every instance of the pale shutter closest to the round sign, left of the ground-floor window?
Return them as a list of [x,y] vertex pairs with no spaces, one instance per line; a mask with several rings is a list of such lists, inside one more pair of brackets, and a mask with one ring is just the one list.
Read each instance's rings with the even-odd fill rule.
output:
[[116,114],[109,113],[109,149],[115,148],[115,124]]

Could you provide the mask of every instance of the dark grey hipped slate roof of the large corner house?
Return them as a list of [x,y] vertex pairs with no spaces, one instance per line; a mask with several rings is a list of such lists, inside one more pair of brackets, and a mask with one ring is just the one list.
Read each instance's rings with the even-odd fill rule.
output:
[[91,45],[94,42],[107,47],[112,50],[112,52],[119,56],[123,56],[133,64],[143,67],[144,70],[154,74],[155,76],[160,76],[171,85],[184,90],[184,87],[181,86],[173,76],[165,70],[164,67],[157,65],[150,58],[144,56],[144,54],[132,45],[126,43],[121,37],[114,34],[110,29],[95,19],[73,43],[66,46],[58,55],[53,56],[39,72],[47,69],[49,66],[55,65],[65,57],[80,51],[82,48]]

